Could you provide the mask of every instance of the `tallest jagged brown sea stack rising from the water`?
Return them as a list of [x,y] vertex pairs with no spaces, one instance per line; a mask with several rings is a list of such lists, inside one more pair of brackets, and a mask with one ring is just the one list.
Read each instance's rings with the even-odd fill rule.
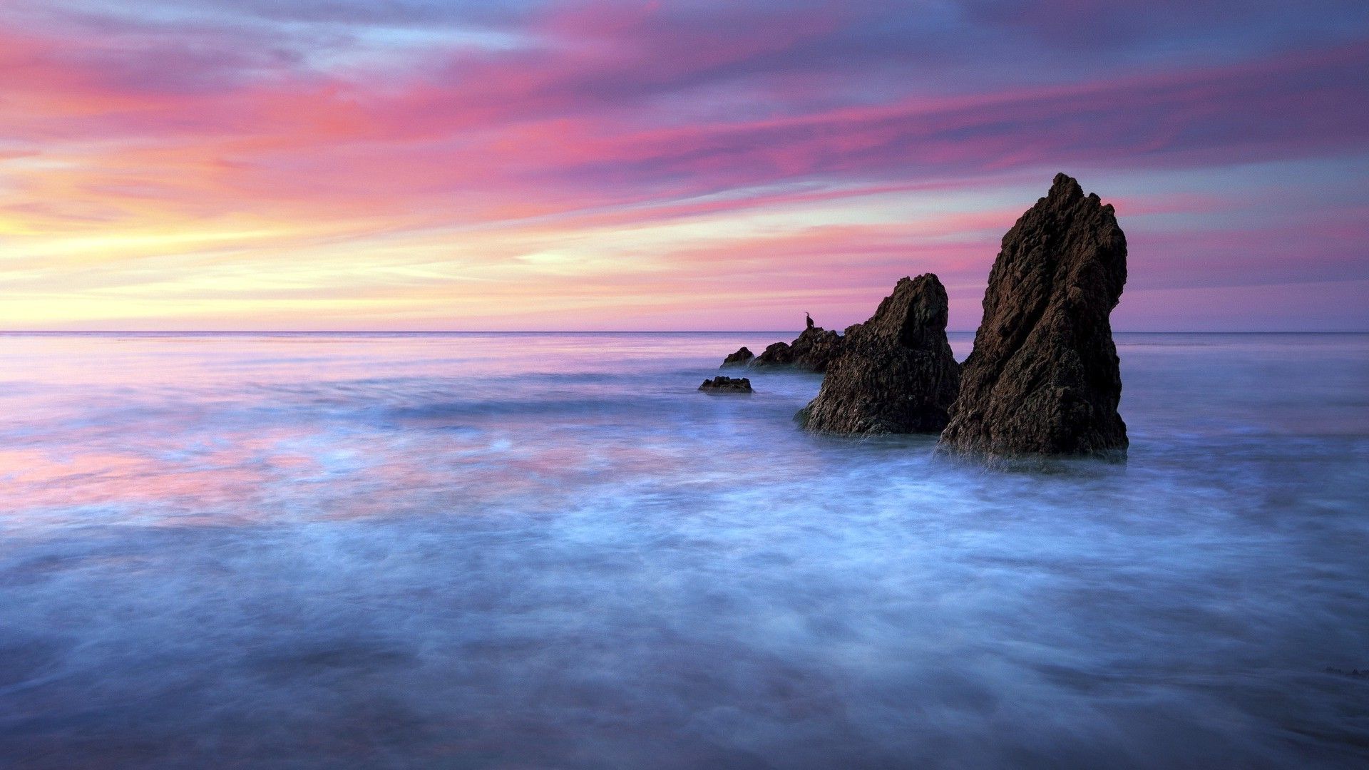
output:
[[1003,236],[941,451],[1123,454],[1108,316],[1125,282],[1127,238],[1113,207],[1055,175],[1050,193]]

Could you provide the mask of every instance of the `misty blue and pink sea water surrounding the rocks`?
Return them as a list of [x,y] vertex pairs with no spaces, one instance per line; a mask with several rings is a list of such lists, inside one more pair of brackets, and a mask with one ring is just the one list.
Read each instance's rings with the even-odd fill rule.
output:
[[0,766],[1369,762],[1369,336],[1031,474],[694,390],[787,336],[0,336]]

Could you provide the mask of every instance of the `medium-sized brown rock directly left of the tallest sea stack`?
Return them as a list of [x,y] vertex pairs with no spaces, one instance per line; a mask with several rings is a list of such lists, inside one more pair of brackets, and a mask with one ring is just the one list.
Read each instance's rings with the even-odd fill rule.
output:
[[936,433],[958,384],[946,289],[930,273],[902,278],[869,321],[846,330],[823,389],[798,419],[832,433]]

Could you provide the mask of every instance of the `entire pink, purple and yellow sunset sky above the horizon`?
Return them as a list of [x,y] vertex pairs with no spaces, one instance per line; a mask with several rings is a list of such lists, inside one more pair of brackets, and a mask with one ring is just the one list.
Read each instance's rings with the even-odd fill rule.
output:
[[1369,330],[1364,0],[0,0],[0,329],[798,330],[1117,210],[1118,330]]

